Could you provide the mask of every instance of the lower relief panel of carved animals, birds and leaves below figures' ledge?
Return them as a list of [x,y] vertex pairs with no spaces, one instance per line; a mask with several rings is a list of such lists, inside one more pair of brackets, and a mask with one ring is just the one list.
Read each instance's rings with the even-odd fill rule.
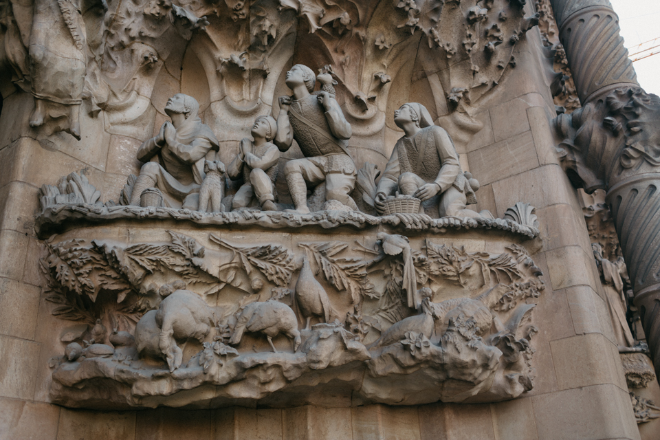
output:
[[[419,241],[408,245],[423,286],[419,309],[411,309],[403,289],[409,263],[386,251],[391,235],[357,248],[303,241],[298,251],[168,235],[163,243],[47,243],[46,298],[53,314],[75,324],[52,359],[55,401],[192,404],[212,385],[218,403],[245,393],[265,403],[289,396],[289,387],[297,393],[310,375],[396,404],[498,401],[533,387],[530,319],[544,285],[520,245],[499,254],[428,239],[421,250]],[[264,289],[265,301],[257,294]],[[116,300],[101,306],[99,294]],[[85,342],[100,326],[114,329],[108,341]],[[346,373],[349,364],[363,380]],[[114,390],[103,402],[97,383]]]

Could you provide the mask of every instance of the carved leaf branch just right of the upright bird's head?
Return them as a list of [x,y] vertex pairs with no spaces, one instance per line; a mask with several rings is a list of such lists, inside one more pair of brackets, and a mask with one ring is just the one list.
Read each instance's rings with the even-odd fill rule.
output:
[[[360,303],[360,295],[377,298],[373,284],[366,273],[368,262],[362,259],[334,258],[336,254],[348,247],[347,243],[328,241],[325,243],[300,243],[303,249],[314,255],[319,270],[323,271],[325,279],[338,291],[347,290],[351,294],[353,304]],[[318,274],[318,271],[316,272]]]

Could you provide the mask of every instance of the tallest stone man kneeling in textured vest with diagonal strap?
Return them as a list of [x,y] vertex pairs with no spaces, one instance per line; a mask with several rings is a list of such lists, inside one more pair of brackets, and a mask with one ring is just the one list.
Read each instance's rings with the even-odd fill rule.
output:
[[309,67],[294,65],[286,83],[293,96],[280,98],[275,144],[287,151],[294,139],[305,158],[294,159],[284,167],[289,192],[297,212],[309,212],[307,184],[325,181],[325,199],[336,200],[357,209],[349,194],[355,188],[355,164],[347,152],[351,124],[338,102],[327,91],[314,91],[316,76]]

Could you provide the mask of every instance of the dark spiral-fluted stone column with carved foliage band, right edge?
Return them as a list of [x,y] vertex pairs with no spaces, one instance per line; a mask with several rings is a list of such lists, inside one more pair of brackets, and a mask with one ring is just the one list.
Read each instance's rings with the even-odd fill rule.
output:
[[555,119],[564,165],[606,200],[660,373],[660,98],[637,84],[608,0],[551,0],[582,109]]

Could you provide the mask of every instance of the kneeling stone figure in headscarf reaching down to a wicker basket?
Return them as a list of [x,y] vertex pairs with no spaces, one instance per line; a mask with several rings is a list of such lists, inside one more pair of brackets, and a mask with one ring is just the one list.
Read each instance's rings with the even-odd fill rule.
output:
[[487,211],[465,208],[467,203],[476,203],[478,182],[463,173],[452,138],[433,124],[426,107],[408,102],[395,111],[394,120],[405,135],[397,141],[378,184],[377,210],[382,213],[386,197],[399,190],[421,201],[440,195],[440,217],[492,218]]

